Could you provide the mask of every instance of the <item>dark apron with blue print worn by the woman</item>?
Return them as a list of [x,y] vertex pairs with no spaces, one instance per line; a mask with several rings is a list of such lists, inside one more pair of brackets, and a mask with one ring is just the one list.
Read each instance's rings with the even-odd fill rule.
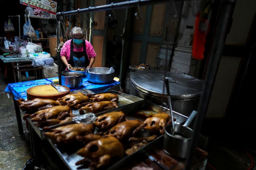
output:
[[84,51],[81,51],[81,52],[74,51],[73,39],[71,40],[69,64],[72,67],[84,68],[89,65],[89,59],[86,53],[85,41],[83,41],[83,48],[84,48]]

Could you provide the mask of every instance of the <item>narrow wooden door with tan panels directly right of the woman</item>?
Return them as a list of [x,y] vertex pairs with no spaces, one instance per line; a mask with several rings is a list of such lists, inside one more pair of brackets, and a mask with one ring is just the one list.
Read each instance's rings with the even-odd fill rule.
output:
[[[92,7],[106,5],[108,0],[92,0]],[[106,11],[92,12],[90,24],[90,42],[96,52],[93,67],[105,67],[106,60],[106,35],[107,17]]]

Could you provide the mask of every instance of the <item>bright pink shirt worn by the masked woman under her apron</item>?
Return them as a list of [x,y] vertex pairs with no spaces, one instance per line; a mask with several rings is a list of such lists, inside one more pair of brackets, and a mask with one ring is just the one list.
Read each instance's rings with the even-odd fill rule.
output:
[[[71,43],[71,39],[66,41],[61,49],[61,52],[60,52],[60,56],[65,56],[67,58],[67,62],[69,63],[69,59],[70,59],[70,43]],[[86,54],[88,56],[88,60],[90,62],[90,59],[92,57],[96,57],[96,53],[92,47],[92,44],[85,40],[85,47],[86,47]],[[74,46],[74,51],[77,51],[77,52],[81,52],[81,51],[84,51],[83,49],[83,46],[79,47],[79,48],[76,48]]]

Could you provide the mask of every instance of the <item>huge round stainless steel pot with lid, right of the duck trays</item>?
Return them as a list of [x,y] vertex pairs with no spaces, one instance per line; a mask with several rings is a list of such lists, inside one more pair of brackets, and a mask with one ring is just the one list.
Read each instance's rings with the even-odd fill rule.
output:
[[[197,110],[199,97],[202,93],[203,80],[166,72],[169,81],[172,110],[185,116]],[[131,75],[131,95],[142,97],[158,105],[167,101],[167,92],[164,86],[164,72],[155,70],[140,70]],[[164,88],[164,91],[163,91]]]

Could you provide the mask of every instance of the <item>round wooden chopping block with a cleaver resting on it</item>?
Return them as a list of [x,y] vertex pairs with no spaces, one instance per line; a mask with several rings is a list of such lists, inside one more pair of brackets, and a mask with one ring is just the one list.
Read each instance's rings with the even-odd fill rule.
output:
[[[56,86],[61,86],[61,85],[56,85]],[[30,87],[27,90],[27,99],[32,100],[35,98],[40,98],[40,99],[57,100],[58,98],[68,95],[70,92],[70,89],[68,87],[66,86],[62,86],[62,87],[67,89],[67,92],[58,92],[58,90],[55,89],[50,84]]]

